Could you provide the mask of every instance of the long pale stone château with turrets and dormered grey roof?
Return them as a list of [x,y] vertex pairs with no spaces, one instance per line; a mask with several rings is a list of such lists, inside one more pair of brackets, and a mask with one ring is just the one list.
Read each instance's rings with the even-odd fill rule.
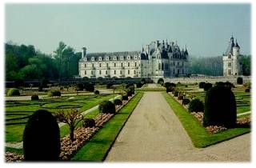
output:
[[166,41],[151,42],[142,51],[86,54],[82,48],[79,75],[87,78],[162,78],[186,76],[188,51]]

